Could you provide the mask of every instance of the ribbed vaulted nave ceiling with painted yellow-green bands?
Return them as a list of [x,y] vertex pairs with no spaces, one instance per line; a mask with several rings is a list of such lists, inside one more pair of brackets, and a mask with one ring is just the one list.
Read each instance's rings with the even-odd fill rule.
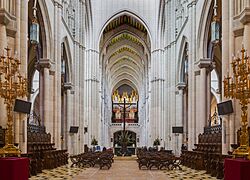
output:
[[110,94],[124,84],[137,91],[143,88],[150,58],[150,40],[139,20],[129,15],[113,19],[104,29],[100,52]]

